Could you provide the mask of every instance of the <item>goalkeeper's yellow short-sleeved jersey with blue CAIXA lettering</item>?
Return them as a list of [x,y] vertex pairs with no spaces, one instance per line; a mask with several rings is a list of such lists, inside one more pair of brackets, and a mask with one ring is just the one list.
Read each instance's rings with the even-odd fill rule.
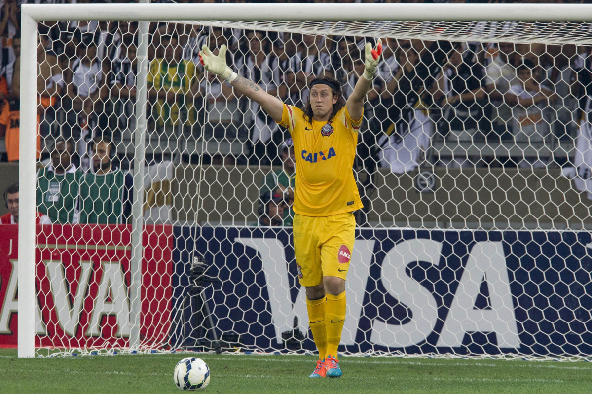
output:
[[332,122],[311,124],[300,108],[284,104],[279,124],[288,128],[294,141],[294,212],[324,217],[361,209],[353,159],[362,118],[353,121],[344,106]]

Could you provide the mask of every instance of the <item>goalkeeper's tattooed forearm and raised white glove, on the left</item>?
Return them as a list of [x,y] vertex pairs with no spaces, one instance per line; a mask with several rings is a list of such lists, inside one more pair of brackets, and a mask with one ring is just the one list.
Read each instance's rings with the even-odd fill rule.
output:
[[200,51],[200,61],[206,70],[226,79],[227,82],[233,86],[234,91],[242,93],[248,98],[258,102],[261,108],[263,108],[263,111],[267,112],[276,122],[282,120],[284,103],[277,97],[263,91],[255,82],[237,75],[237,73],[227,66],[226,45],[220,47],[218,56],[215,56],[212,51],[204,45]]

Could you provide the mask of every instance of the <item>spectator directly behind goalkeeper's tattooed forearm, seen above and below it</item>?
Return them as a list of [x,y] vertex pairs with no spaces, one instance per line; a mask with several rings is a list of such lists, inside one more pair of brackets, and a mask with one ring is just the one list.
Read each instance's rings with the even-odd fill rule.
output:
[[[249,46],[246,56],[236,59],[239,75],[252,80],[270,95],[277,96],[278,59],[271,51],[271,43],[264,32],[250,30],[246,33],[246,44]],[[278,130],[278,125],[255,101],[250,103],[248,114],[250,116],[246,115],[244,121],[250,125],[254,159],[258,164],[269,164],[272,157],[277,156],[277,148],[272,146],[270,141],[272,134]]]

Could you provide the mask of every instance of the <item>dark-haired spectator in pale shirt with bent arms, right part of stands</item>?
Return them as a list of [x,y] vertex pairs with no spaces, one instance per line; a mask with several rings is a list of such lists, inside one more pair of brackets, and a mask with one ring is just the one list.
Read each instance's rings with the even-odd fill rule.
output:
[[[528,143],[533,146],[542,143],[550,133],[551,119],[549,101],[555,100],[555,93],[543,86],[533,77],[535,64],[524,60],[517,68],[517,83],[510,86],[510,92],[516,95],[517,104],[513,108],[513,130],[517,143]],[[544,167],[546,164],[540,158],[523,159],[521,167]]]

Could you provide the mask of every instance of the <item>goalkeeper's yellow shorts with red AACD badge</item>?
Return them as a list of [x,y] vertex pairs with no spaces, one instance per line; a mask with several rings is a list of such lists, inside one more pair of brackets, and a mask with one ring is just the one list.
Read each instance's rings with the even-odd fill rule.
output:
[[356,230],[351,212],[318,218],[295,214],[292,230],[302,286],[320,285],[323,276],[345,280]]

